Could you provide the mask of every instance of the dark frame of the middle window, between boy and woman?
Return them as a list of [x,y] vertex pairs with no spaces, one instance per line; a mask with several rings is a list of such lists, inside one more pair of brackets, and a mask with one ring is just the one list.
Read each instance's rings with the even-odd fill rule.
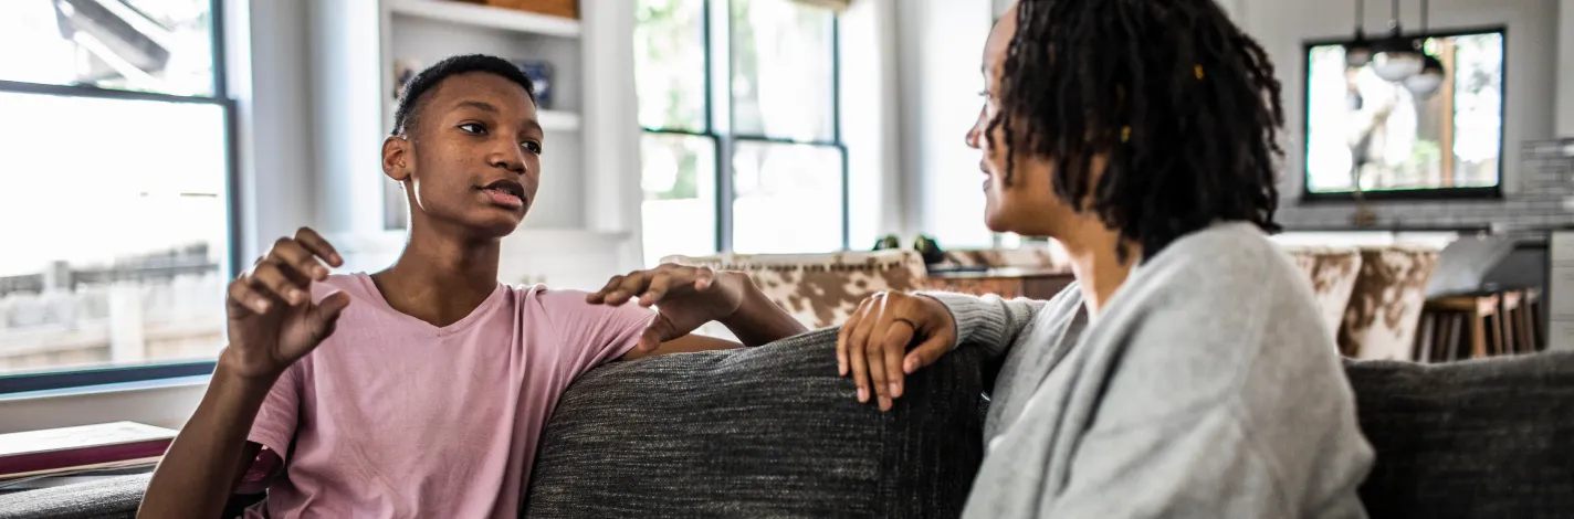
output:
[[[705,91],[704,91],[704,96],[705,96],[705,113],[704,113],[705,127],[702,131],[694,131],[694,129],[674,129],[674,127],[647,127],[647,126],[641,124],[641,138],[644,138],[644,135],[648,135],[648,134],[656,134],[656,135],[697,137],[697,138],[708,138],[711,142],[711,149],[715,151],[715,171],[713,171],[713,175],[716,176],[716,193],[715,193],[716,195],[716,208],[715,208],[715,211],[716,211],[716,228],[715,228],[715,233],[716,233],[715,237],[716,237],[716,241],[715,241],[715,245],[716,245],[716,252],[718,253],[732,252],[732,245],[733,245],[733,239],[732,239],[732,234],[733,234],[732,233],[733,231],[733,214],[732,214],[733,211],[732,211],[732,204],[733,204],[733,201],[737,201],[737,195],[738,193],[737,193],[737,189],[733,186],[733,178],[732,178],[733,176],[733,171],[732,171],[732,156],[733,156],[733,149],[735,149],[737,143],[740,143],[740,142],[749,142],[749,143],[765,143],[765,145],[804,145],[804,146],[833,148],[833,149],[836,149],[836,153],[841,156],[841,165],[842,165],[842,171],[841,171],[841,182],[842,182],[842,197],[841,197],[841,208],[842,208],[841,231],[842,231],[842,241],[841,242],[842,242],[842,247],[841,248],[847,250],[848,248],[848,239],[850,239],[850,234],[852,234],[852,223],[850,223],[852,214],[850,214],[850,206],[848,206],[850,204],[848,190],[850,190],[852,186],[850,186],[850,179],[848,179],[847,143],[844,142],[844,137],[842,137],[842,58],[841,58],[841,52],[842,52],[842,36],[841,36],[842,20],[841,20],[839,13],[836,13],[834,9],[826,8],[828,11],[831,11],[831,58],[833,58],[831,60],[831,140],[795,140],[795,138],[782,138],[782,137],[770,137],[770,135],[754,135],[754,134],[740,134],[740,132],[735,132],[733,129],[737,127],[737,116],[735,116],[735,110],[730,110],[730,109],[727,110],[727,131],[726,132],[716,131],[716,126],[718,126],[716,124],[718,123],[716,121],[716,85],[718,85],[718,80],[716,80],[716,66],[715,64],[716,64],[718,58],[726,58],[726,60],[729,60],[729,63],[730,63],[730,58],[732,58],[732,39],[730,39],[730,35],[732,35],[732,25],[730,25],[732,24],[732,0],[699,0],[699,2],[702,3],[700,5],[700,11],[704,13],[702,14],[702,20],[700,20],[700,33],[704,36],[700,39],[700,46],[702,46],[700,50],[704,52],[704,60],[702,61],[704,61],[704,68],[705,68]],[[781,0],[781,2],[795,2],[795,0]],[[722,5],[718,6],[718,3],[722,3]],[[724,11],[718,13],[718,9],[724,9]],[[727,27],[721,27],[721,28],[715,27],[713,20],[718,16],[724,16],[722,19],[726,19],[729,25]],[[716,38],[718,31],[724,31],[729,36],[726,39],[718,39]],[[722,57],[718,57],[718,52],[716,52],[718,47],[726,47],[726,53]],[[732,71],[730,64],[727,66],[727,71],[729,72]],[[724,79],[724,80],[727,83],[730,83],[730,79]],[[732,96],[730,94],[727,94],[727,102],[729,104],[732,102]],[[641,175],[644,175],[644,168],[641,168]],[[644,193],[641,193],[641,197],[644,197]],[[644,198],[641,198],[641,201],[644,201]]]

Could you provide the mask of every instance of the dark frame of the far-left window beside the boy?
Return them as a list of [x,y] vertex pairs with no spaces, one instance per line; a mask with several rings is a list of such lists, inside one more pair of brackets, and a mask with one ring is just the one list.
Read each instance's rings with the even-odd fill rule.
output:
[[[228,269],[227,275],[239,272],[241,266],[241,247],[236,245],[236,239],[242,236],[241,222],[236,217],[236,208],[239,204],[238,186],[239,186],[239,165],[236,157],[239,156],[239,131],[236,120],[236,102],[230,98],[228,85],[228,55],[225,46],[225,0],[209,0],[209,20],[212,27],[209,28],[209,46],[212,52],[212,94],[211,96],[176,96],[164,93],[148,93],[148,91],[129,91],[115,88],[101,88],[94,85],[49,85],[49,83],[28,83],[14,80],[0,80],[0,93],[20,93],[20,94],[44,94],[58,98],[94,98],[94,99],[120,99],[120,101],[157,101],[157,102],[178,102],[178,104],[206,104],[216,105],[222,113],[222,127],[225,132],[225,149],[224,149],[224,198],[225,198],[225,219],[228,236],[225,237],[230,247],[227,258]],[[127,382],[151,382],[164,379],[178,379],[187,376],[206,376],[212,374],[217,366],[217,359],[214,360],[189,360],[189,362],[150,362],[145,365],[131,366],[85,366],[85,368],[61,368],[61,370],[42,370],[42,371],[22,371],[0,374],[0,398],[17,396],[24,393],[35,392],[54,392],[54,390],[69,390],[83,388],[93,385],[107,384],[127,384]]]

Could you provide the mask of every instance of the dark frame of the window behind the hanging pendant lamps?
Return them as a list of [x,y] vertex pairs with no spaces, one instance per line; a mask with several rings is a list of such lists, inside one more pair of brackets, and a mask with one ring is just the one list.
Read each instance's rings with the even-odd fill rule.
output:
[[[1426,189],[1395,189],[1395,190],[1366,190],[1362,192],[1362,198],[1368,201],[1390,201],[1390,200],[1503,200],[1503,164],[1508,154],[1506,132],[1508,132],[1508,27],[1506,25],[1483,25],[1483,27],[1464,27],[1451,30],[1429,30],[1424,33],[1406,35],[1406,38],[1453,38],[1453,36],[1472,36],[1472,35],[1502,35],[1503,38],[1503,66],[1502,66],[1502,118],[1497,126],[1497,184],[1491,187],[1426,187]],[[1302,115],[1302,156],[1300,156],[1300,198],[1299,203],[1349,203],[1355,201],[1355,192],[1313,192],[1311,190],[1311,49],[1322,46],[1343,46],[1354,39],[1349,38],[1327,38],[1327,39],[1308,39],[1302,42],[1300,58],[1302,58],[1302,98],[1300,98],[1300,115]]]

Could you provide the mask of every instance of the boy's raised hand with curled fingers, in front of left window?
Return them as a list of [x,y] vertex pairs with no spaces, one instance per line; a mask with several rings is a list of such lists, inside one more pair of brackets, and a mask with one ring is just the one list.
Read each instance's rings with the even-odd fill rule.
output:
[[334,333],[349,294],[332,293],[312,302],[312,283],[327,278],[327,266],[345,260],[323,236],[301,228],[280,237],[252,269],[230,282],[227,297],[230,346],[219,355],[247,379],[277,377]]

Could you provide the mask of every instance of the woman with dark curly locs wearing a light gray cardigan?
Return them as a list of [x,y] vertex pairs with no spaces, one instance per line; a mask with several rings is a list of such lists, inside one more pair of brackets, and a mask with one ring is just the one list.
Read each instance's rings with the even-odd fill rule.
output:
[[999,362],[968,517],[1365,516],[1333,338],[1264,236],[1264,50],[1212,0],[1023,0],[984,63],[985,222],[1058,239],[1077,283],[864,300],[837,343],[858,398],[889,409],[959,343]]

